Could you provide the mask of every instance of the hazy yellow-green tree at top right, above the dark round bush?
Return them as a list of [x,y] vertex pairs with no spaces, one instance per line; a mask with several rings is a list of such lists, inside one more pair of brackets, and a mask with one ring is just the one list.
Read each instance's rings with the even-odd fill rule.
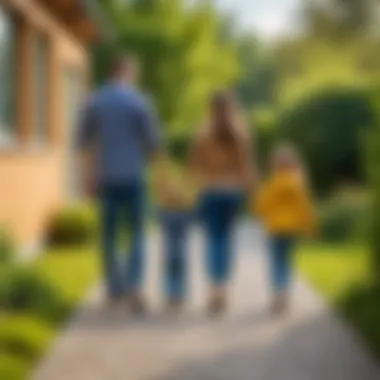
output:
[[305,33],[274,49],[280,103],[289,105],[326,87],[378,83],[378,7],[375,0],[306,2]]

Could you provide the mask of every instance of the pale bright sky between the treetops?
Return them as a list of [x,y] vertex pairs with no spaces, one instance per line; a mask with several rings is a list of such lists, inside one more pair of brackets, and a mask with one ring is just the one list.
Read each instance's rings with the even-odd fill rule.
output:
[[243,29],[256,30],[263,38],[293,33],[299,26],[297,11],[302,0],[217,0],[231,11]]

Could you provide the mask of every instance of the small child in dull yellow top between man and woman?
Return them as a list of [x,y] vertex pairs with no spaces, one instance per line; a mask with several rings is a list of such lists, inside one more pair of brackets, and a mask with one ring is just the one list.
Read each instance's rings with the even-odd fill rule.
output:
[[164,238],[165,294],[168,311],[180,311],[186,296],[186,251],[193,194],[185,174],[164,163],[158,185],[160,222]]

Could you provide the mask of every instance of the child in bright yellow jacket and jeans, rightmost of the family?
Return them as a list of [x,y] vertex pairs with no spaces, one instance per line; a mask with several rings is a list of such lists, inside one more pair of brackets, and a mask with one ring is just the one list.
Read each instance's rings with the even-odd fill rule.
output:
[[298,238],[314,234],[315,218],[300,160],[290,145],[274,151],[271,170],[254,207],[269,234],[272,312],[281,313],[288,306],[293,248]]

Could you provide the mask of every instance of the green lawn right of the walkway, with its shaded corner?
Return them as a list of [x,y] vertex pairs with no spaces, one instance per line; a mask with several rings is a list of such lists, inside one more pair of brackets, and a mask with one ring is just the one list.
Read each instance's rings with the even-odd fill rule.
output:
[[296,265],[380,359],[380,289],[373,286],[369,249],[353,244],[303,244]]

